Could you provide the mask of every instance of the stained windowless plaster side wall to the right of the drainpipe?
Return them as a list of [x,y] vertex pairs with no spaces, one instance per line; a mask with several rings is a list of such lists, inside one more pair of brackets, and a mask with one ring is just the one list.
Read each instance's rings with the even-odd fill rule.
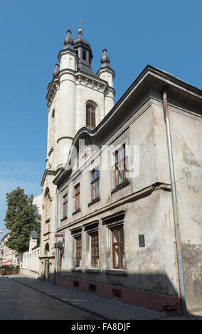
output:
[[202,307],[202,119],[169,107],[188,308]]

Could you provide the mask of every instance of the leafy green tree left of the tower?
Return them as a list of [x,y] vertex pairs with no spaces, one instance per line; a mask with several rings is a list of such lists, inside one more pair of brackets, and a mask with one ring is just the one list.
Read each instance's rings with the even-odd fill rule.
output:
[[14,249],[17,254],[26,252],[29,247],[31,231],[41,235],[41,215],[37,206],[33,205],[33,195],[28,197],[20,187],[11,193],[6,193],[6,227],[9,230],[9,239],[6,246]]

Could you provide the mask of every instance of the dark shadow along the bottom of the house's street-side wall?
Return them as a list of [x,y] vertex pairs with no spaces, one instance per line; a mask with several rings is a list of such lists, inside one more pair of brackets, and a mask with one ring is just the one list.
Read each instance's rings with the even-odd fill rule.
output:
[[[55,284],[100,297],[116,298],[135,306],[181,314],[178,293],[164,274],[128,274],[117,278],[117,274],[112,274],[110,270],[105,273],[100,273],[99,270],[93,272],[93,269],[86,271],[85,279],[82,277],[83,272],[78,269],[60,271],[57,273]],[[105,275],[105,283],[99,279],[100,275]],[[133,289],[127,287],[132,285]]]

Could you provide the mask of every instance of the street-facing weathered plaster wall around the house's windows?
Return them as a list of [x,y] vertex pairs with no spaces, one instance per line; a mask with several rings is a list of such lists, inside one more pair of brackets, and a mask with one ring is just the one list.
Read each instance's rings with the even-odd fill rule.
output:
[[[150,195],[147,193],[139,199],[131,198],[127,201],[129,196],[134,195],[139,190],[164,181],[163,172],[161,172],[161,178],[158,178],[160,172],[156,166],[159,163],[158,153],[161,153],[162,135],[161,130],[159,131],[153,125],[154,117],[157,119],[155,112],[158,114],[159,109],[153,110],[151,103],[147,101],[134,115],[134,119],[130,119],[128,124],[119,129],[115,136],[107,142],[115,147],[123,143],[139,146],[139,174],[135,178],[130,178],[130,183],[126,187],[115,193],[111,192],[115,187],[114,171],[100,171],[100,201],[88,206],[90,187],[87,184],[90,184],[90,177],[87,169],[75,173],[70,181],[63,183],[62,191],[59,194],[58,227],[60,227],[60,231],[63,230],[65,233],[65,249],[60,274],[131,289],[167,295],[177,294],[179,286],[176,272],[171,193],[165,190],[154,190]],[[157,126],[158,122],[156,121]],[[160,163],[159,169],[161,166]],[[166,181],[169,183],[168,176]],[[81,210],[72,215],[74,211],[73,188],[79,182]],[[68,218],[61,220],[62,196],[67,191]],[[124,202],[123,199],[125,199]],[[124,270],[126,274],[118,271],[109,274],[106,270],[112,270],[111,231],[102,224],[102,218],[120,210],[126,212],[124,217]],[[83,224],[92,220],[99,221],[100,272],[95,274],[95,272],[85,271],[90,267],[90,238],[84,229],[82,231],[81,269],[72,271],[75,266],[75,244],[70,229],[82,227]],[[145,247],[139,247],[139,235],[144,235]]]

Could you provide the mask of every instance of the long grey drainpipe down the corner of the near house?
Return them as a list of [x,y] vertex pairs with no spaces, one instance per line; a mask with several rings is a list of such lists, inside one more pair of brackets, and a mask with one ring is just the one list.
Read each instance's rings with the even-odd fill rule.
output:
[[181,236],[179,229],[179,213],[178,205],[176,199],[176,181],[174,173],[174,159],[171,143],[171,128],[169,121],[169,107],[166,91],[162,92],[163,106],[164,106],[164,118],[166,122],[166,136],[167,136],[167,145],[169,153],[169,168],[170,168],[170,177],[171,177],[171,194],[172,194],[172,203],[174,211],[174,227],[175,227],[175,238],[176,238],[176,252],[177,252],[177,262],[179,270],[179,291],[180,291],[180,301],[181,301],[181,313],[185,316],[187,313],[186,310],[186,298],[184,293],[184,274],[183,274],[183,264],[182,264],[182,255],[181,255]]

